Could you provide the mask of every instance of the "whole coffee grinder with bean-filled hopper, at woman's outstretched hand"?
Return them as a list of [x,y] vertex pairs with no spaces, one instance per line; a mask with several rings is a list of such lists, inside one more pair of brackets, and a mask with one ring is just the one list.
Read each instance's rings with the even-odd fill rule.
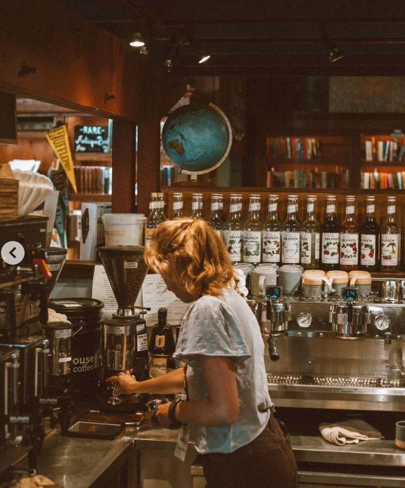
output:
[[[134,305],[148,269],[144,260],[145,247],[102,246],[99,251],[118,304],[116,314],[103,321],[103,379],[127,370],[138,381],[148,379],[146,322],[141,318],[142,308]],[[109,405],[115,410],[119,406],[120,411],[139,410],[139,397],[114,397],[118,385],[109,385],[113,395],[110,390],[110,398],[107,402],[104,398],[102,408]],[[103,386],[105,389],[108,384]]]

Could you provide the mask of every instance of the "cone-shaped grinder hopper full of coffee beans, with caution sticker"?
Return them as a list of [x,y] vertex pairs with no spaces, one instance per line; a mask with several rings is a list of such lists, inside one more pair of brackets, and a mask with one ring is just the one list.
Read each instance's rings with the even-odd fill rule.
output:
[[135,312],[134,304],[148,270],[144,260],[145,247],[112,245],[101,246],[99,251],[118,304],[117,315],[137,315],[139,312]]

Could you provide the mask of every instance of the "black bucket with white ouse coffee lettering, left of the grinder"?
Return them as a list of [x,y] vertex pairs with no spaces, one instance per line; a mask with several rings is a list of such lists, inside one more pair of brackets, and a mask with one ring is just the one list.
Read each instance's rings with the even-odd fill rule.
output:
[[49,308],[63,313],[73,325],[71,388],[83,400],[94,398],[100,380],[101,310],[103,302],[93,298],[49,300]]

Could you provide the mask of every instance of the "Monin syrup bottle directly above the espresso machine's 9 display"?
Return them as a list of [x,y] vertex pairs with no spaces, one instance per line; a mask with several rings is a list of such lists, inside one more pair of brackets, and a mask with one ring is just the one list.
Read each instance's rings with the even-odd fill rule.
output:
[[263,223],[261,260],[263,263],[280,264],[281,222],[277,216],[278,195],[269,195],[268,213]]

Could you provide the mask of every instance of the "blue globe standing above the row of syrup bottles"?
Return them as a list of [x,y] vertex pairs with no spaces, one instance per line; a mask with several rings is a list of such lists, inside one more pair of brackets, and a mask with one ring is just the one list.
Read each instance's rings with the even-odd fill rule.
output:
[[206,173],[223,161],[231,149],[231,125],[215,106],[184,105],[166,120],[163,148],[181,169]]

